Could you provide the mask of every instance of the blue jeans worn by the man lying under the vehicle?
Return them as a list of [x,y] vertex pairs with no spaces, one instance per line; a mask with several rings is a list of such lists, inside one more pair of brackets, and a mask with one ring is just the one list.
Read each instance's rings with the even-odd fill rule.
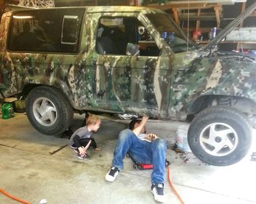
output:
[[118,135],[112,166],[123,169],[123,160],[127,152],[136,162],[153,164],[152,184],[165,182],[166,142],[163,139],[157,138],[152,142],[141,141],[132,130],[122,130]]

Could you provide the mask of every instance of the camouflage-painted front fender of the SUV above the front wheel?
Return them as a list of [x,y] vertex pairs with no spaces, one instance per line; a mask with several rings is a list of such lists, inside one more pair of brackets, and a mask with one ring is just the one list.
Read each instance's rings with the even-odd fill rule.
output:
[[256,61],[227,57],[195,58],[187,66],[179,69],[178,65],[175,67],[177,69],[172,73],[169,106],[170,115],[174,115],[174,118],[186,119],[190,106],[202,95],[249,98],[255,106]]

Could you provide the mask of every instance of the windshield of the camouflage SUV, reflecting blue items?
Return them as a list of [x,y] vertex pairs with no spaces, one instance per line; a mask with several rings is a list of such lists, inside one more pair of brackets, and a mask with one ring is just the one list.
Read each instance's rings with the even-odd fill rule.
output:
[[[146,17],[157,29],[162,39],[165,39],[165,42],[169,44],[173,52],[187,51],[187,38],[170,17],[162,13],[146,14]],[[195,46],[191,42],[189,42],[188,48],[189,50],[195,50]]]

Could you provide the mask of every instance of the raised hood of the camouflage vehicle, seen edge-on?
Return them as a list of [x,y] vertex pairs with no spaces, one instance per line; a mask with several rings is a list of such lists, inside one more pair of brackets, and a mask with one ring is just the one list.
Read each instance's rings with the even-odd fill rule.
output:
[[233,20],[230,24],[228,24],[222,31],[219,32],[219,34],[212,39],[208,44],[206,44],[205,47],[203,47],[203,50],[207,50],[222,41],[222,39],[227,36],[227,34],[230,33],[230,31],[233,31],[233,29],[236,28],[236,26],[239,25],[246,17],[252,14],[252,12],[256,9],[256,1],[253,3],[250,7],[248,7],[244,12],[241,13],[241,15],[238,15],[235,20]]

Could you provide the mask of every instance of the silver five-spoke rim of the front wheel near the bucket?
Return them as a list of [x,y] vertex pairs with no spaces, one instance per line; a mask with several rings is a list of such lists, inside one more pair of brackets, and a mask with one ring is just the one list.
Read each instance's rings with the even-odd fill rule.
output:
[[214,122],[203,128],[200,133],[200,146],[215,157],[223,157],[238,146],[238,135],[230,125]]

